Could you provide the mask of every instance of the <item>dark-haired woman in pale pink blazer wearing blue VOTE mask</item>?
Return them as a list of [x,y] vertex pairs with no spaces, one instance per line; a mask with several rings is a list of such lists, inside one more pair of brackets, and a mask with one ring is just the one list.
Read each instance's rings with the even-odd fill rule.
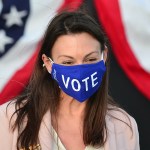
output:
[[139,150],[135,120],[108,96],[105,43],[87,14],[54,17],[25,93],[0,107],[1,149]]

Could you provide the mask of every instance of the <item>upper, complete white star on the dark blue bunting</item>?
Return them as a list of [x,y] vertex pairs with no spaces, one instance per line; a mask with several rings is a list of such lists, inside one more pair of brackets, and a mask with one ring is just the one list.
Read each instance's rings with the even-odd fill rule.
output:
[[3,15],[3,18],[6,19],[6,26],[11,27],[12,25],[21,26],[23,24],[22,18],[27,15],[27,11],[18,11],[15,6],[11,6],[10,12]]

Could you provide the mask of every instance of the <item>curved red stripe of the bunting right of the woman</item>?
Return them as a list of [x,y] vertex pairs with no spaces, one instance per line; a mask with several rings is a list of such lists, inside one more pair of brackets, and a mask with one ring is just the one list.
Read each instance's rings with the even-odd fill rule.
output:
[[94,0],[115,57],[129,79],[150,100],[150,74],[138,63],[125,36],[118,0]]

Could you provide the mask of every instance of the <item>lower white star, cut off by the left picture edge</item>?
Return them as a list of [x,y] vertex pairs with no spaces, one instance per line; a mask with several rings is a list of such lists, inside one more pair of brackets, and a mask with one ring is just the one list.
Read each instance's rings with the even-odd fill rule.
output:
[[0,52],[5,51],[5,45],[12,43],[14,40],[8,37],[4,30],[0,30]]

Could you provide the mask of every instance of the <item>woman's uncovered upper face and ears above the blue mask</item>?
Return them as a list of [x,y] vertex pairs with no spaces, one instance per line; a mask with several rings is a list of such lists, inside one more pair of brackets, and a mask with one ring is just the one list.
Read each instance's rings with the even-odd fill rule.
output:
[[[107,51],[104,51],[104,61]],[[51,63],[43,54],[42,59],[48,71],[51,71]],[[55,41],[52,48],[52,60],[61,65],[91,64],[100,61],[101,45],[90,34],[83,32],[78,34],[61,35]]]

